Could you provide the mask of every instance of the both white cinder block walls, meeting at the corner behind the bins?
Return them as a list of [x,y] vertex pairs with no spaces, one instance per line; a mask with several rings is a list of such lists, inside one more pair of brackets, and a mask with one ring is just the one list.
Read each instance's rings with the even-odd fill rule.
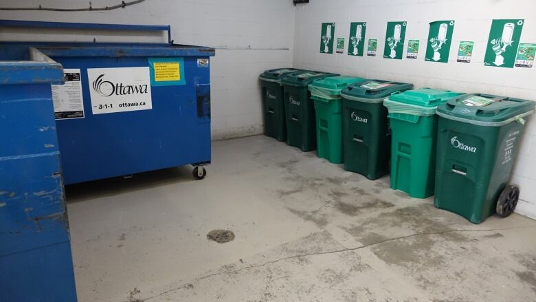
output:
[[[117,0],[93,0],[94,7]],[[87,1],[2,0],[0,6],[79,7]],[[291,0],[147,0],[110,12],[5,12],[1,19],[93,23],[170,24],[175,43],[216,47],[212,59],[212,135],[232,138],[262,132],[257,76],[265,69],[293,65],[341,74],[382,78],[457,91],[536,100],[536,67],[484,67],[491,19],[525,19],[522,43],[536,43],[536,3],[532,0],[311,0],[293,7]],[[423,59],[428,23],[456,21],[449,63]],[[367,22],[366,41],[378,39],[376,57],[348,56],[351,21]],[[382,58],[388,21],[407,21],[405,39],[421,41],[418,59]],[[335,22],[344,37],[344,54],[320,54],[320,23]],[[1,40],[55,39],[92,41],[87,32],[0,29]],[[127,36],[125,36],[127,35]],[[165,41],[164,36],[100,32],[98,41]],[[460,41],[474,41],[472,62],[457,63]],[[405,57],[404,49],[404,57]],[[536,118],[529,119],[517,155],[512,183],[521,187],[517,211],[536,218]]]

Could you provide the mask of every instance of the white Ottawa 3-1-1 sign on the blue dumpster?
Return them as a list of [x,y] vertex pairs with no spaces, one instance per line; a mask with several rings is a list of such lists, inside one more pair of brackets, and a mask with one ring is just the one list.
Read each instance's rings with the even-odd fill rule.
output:
[[153,109],[149,67],[88,68],[93,114]]

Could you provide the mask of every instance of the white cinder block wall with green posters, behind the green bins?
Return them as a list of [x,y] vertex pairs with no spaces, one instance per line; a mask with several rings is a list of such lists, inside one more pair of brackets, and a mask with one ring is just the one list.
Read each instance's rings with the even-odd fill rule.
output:
[[[525,19],[522,43],[536,43],[533,0],[311,0],[295,10],[294,67],[379,78],[465,92],[484,92],[536,100],[536,67],[484,67],[492,19]],[[429,22],[455,20],[448,63],[424,61]],[[383,58],[388,21],[407,21],[405,41],[421,41],[418,59]],[[335,22],[335,37],[344,37],[344,54],[320,54],[320,26]],[[377,56],[348,56],[350,22],[367,22],[366,41],[378,39]],[[474,41],[471,63],[457,63],[460,41]],[[406,45],[405,45],[406,46]],[[366,44],[365,44],[366,50]],[[529,119],[511,182],[521,188],[517,211],[536,218],[536,118]]]

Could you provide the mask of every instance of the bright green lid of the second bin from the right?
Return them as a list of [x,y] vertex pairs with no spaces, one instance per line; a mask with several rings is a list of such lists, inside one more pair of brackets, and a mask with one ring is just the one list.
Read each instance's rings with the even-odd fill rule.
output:
[[456,98],[462,93],[448,90],[436,90],[432,88],[421,88],[407,90],[401,93],[395,92],[389,96],[390,101],[407,105],[417,105],[421,107],[437,107],[451,98]]

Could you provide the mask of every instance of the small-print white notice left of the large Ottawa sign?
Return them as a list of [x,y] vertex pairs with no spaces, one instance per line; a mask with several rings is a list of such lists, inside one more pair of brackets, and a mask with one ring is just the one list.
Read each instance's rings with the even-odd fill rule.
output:
[[80,69],[63,69],[63,85],[51,85],[54,101],[54,118],[84,118],[84,100],[82,99],[82,81]]

